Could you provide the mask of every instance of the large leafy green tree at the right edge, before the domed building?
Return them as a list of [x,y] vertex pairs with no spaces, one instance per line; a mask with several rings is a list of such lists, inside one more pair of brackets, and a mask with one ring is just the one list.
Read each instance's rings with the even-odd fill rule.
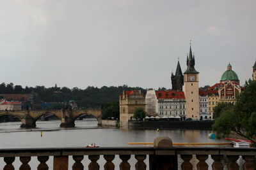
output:
[[219,137],[234,132],[249,139],[256,146],[256,81],[246,81],[245,90],[237,96],[234,108],[221,111],[212,126]]

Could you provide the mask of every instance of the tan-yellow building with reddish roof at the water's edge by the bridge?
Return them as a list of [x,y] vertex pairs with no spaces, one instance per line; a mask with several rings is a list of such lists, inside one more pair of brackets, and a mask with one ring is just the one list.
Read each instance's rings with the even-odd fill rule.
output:
[[145,95],[140,90],[124,91],[119,98],[120,126],[128,127],[128,121],[132,120],[135,108],[145,110]]

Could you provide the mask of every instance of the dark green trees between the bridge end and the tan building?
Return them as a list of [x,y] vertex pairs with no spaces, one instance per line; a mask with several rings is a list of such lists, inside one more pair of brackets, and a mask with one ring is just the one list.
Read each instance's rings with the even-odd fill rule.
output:
[[108,117],[119,118],[119,101],[113,101],[112,103],[106,103],[103,107],[103,119]]

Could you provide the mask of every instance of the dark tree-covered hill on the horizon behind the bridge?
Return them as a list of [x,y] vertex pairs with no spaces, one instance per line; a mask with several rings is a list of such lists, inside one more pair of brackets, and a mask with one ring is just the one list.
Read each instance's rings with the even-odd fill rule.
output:
[[89,86],[86,89],[79,89],[74,87],[49,87],[36,86],[22,88],[20,85],[13,85],[13,83],[0,85],[0,94],[29,94],[32,91],[36,92],[42,102],[68,102],[70,100],[76,101],[81,108],[99,108],[102,104],[111,103],[114,100],[119,100],[120,94],[123,90],[141,90],[146,94],[146,89],[141,87],[128,87],[127,85],[118,87],[101,88]]

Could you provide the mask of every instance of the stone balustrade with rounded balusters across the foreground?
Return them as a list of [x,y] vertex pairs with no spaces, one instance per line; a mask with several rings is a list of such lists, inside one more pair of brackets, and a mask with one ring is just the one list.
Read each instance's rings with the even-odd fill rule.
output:
[[[154,141],[154,147],[120,147],[120,148],[29,148],[29,149],[0,149],[0,157],[4,157],[4,170],[12,170],[15,157],[19,157],[22,163],[21,170],[31,169],[29,161],[31,157],[37,157],[40,164],[37,169],[46,170],[49,169],[47,160],[49,156],[53,156],[53,169],[67,170],[68,169],[68,156],[72,155],[74,164],[72,169],[81,170],[97,170],[97,169],[184,169],[192,170],[193,165],[190,160],[194,157],[198,160],[196,164],[197,169],[208,169],[209,166],[214,170],[223,169],[223,159],[227,160],[228,169],[239,169],[237,159],[239,156],[243,157],[245,163],[243,164],[244,170],[255,169],[255,155],[256,148],[192,148],[192,147],[172,147],[172,144],[168,144],[168,139],[164,138]],[[81,161],[84,159],[84,155],[88,155],[86,160],[90,162],[88,167],[84,167]],[[97,161],[103,155],[106,163],[104,167],[100,167]],[[128,160],[131,159],[131,155],[134,155],[136,159],[135,167],[131,167]],[[144,160],[148,156],[148,162]],[[120,164],[113,164],[113,160],[119,157],[122,161]],[[214,162],[209,165],[205,162],[211,157]],[[181,160],[181,165],[178,168],[178,159]],[[148,167],[147,167],[148,166]]]

